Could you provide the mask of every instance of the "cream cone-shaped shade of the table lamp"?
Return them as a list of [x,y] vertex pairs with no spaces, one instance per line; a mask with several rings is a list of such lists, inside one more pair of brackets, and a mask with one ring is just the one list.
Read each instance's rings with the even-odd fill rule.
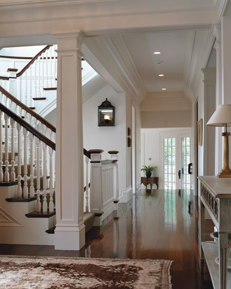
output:
[[227,126],[231,125],[231,104],[221,104],[215,110],[207,125],[212,126]]

